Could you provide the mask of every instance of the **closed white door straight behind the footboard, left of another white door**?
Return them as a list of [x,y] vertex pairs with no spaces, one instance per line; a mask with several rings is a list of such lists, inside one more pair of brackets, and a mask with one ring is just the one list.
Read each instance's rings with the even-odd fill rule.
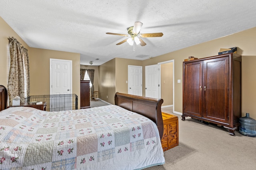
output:
[[128,94],[142,96],[142,66],[128,66]]

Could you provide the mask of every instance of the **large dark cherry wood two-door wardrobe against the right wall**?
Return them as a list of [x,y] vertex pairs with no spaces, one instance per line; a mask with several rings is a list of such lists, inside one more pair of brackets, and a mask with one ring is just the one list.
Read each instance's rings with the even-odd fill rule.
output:
[[186,116],[222,125],[230,135],[241,117],[242,57],[235,53],[183,62],[183,109]]

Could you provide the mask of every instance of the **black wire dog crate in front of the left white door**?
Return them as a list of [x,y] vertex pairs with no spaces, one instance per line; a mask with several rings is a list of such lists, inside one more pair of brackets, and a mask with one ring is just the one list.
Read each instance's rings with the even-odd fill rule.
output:
[[53,94],[28,96],[26,102],[46,102],[46,111],[63,111],[78,109],[76,94]]

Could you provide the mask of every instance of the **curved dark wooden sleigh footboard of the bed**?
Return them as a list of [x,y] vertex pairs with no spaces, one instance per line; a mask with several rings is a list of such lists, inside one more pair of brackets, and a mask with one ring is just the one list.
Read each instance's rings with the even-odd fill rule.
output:
[[163,102],[164,100],[162,99],[147,98],[119,92],[116,92],[115,95],[115,105],[134,111],[154,121],[158,127],[160,139],[162,139],[164,133],[161,112],[161,105]]

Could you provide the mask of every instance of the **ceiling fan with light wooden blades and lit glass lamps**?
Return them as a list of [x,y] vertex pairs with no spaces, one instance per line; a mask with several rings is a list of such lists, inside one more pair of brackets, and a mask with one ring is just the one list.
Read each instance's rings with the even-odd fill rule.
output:
[[119,33],[106,33],[106,34],[111,34],[111,35],[121,35],[125,37],[129,37],[127,39],[124,39],[120,43],[117,43],[116,45],[120,45],[124,42],[128,42],[130,45],[134,45],[134,42],[138,45],[140,44],[141,46],[145,46],[146,43],[140,38],[149,38],[149,37],[162,37],[164,34],[163,33],[144,33],[140,34],[140,29],[142,27],[143,23],[137,21],[134,23],[134,26],[128,27],[128,34],[119,34]]

